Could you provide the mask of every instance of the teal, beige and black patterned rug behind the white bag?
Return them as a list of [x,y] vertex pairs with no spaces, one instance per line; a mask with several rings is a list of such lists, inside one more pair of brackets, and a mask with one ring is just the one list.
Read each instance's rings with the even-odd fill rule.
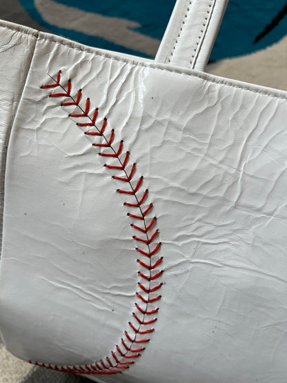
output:
[[[152,58],[174,4],[175,0],[9,0],[0,1],[0,14],[89,46]],[[230,0],[207,71],[287,90],[286,14],[286,0]],[[0,383],[50,382],[90,380],[32,366],[0,343]]]

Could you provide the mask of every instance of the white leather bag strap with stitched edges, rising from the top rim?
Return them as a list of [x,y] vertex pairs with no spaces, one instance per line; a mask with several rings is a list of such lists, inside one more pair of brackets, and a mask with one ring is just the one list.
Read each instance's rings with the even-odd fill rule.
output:
[[228,0],[177,0],[155,61],[204,70]]

